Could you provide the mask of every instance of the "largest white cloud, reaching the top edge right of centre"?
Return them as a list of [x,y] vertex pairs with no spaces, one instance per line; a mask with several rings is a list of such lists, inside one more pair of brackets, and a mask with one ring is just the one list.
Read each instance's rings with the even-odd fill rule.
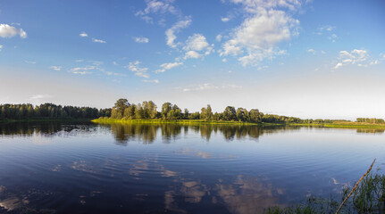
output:
[[256,65],[264,59],[272,59],[285,54],[278,45],[297,36],[299,21],[287,12],[274,7],[295,10],[300,6],[297,1],[232,0],[242,4],[248,13],[241,25],[233,29],[230,39],[222,44],[221,56],[233,55],[243,66]]

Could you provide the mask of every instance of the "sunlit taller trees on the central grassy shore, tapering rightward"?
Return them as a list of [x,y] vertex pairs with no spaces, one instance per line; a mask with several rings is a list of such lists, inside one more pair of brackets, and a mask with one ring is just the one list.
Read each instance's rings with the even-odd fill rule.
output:
[[176,104],[163,103],[161,111],[152,101],[131,104],[127,99],[119,99],[113,106],[111,112],[112,119],[203,119],[207,121],[241,121],[241,122],[265,122],[265,123],[305,123],[305,124],[324,124],[334,121],[348,121],[342,119],[299,119],[296,117],[280,116],[275,114],[264,114],[263,112],[252,109],[247,111],[244,108],[236,109],[227,106],[222,112],[213,112],[210,105],[202,108],[201,111],[183,111]]

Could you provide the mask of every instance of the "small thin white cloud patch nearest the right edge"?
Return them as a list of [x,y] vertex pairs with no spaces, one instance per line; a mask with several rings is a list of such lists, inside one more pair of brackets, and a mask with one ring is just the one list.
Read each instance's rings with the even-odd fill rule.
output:
[[334,69],[337,70],[343,66],[347,65],[357,65],[359,67],[368,67],[369,65],[378,64],[379,60],[372,60],[369,53],[366,50],[354,49],[351,52],[340,51],[339,62],[334,66]]

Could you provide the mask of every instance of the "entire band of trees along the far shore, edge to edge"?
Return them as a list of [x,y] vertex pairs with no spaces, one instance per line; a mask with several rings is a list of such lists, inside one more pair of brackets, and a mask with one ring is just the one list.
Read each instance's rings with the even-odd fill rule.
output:
[[[200,111],[183,111],[176,104],[163,103],[161,111],[152,101],[129,103],[127,99],[119,99],[113,108],[96,109],[91,107],[62,106],[53,103],[1,104],[0,120],[6,119],[200,119],[204,121],[236,121],[249,123],[294,123],[294,124],[331,124],[333,122],[351,122],[344,119],[299,119],[296,117],[264,114],[258,109],[247,111],[245,108],[227,106],[222,112],[213,112],[208,104]],[[356,122],[385,124],[384,119],[357,118]]]

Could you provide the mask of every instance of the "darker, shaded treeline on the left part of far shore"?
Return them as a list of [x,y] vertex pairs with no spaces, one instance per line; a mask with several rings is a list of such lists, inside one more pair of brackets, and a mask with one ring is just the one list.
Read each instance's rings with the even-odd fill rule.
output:
[[2,104],[0,119],[96,119],[111,117],[111,109],[90,107],[62,106],[53,103]]

